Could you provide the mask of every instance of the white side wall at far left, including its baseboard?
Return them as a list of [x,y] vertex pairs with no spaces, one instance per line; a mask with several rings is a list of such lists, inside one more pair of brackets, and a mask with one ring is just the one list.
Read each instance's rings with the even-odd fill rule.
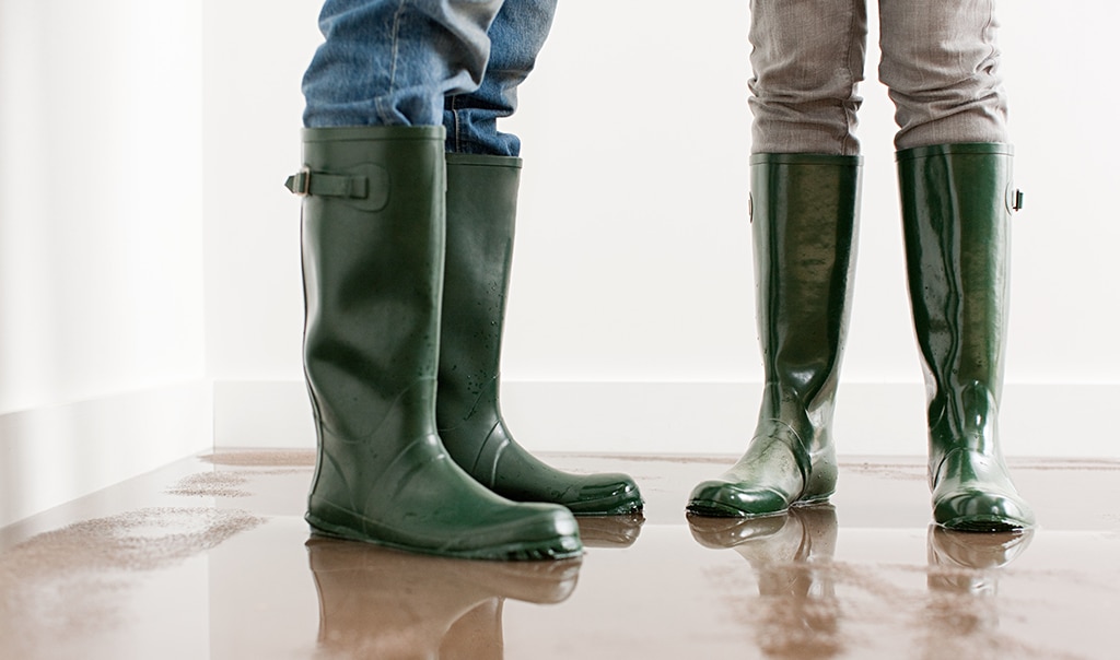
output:
[[200,22],[0,0],[0,526],[209,440]]

